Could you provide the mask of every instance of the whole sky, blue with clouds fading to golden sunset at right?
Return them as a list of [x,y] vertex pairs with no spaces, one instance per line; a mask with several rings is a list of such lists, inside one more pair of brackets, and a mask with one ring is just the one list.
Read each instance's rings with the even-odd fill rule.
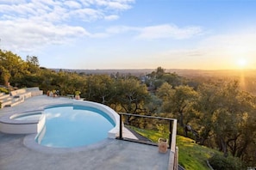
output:
[[0,0],[0,48],[61,69],[255,69],[256,0]]

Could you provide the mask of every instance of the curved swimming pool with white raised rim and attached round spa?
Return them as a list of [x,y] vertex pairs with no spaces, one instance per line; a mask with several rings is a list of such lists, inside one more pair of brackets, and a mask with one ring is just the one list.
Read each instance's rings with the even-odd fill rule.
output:
[[[70,112],[69,116],[72,116],[68,118],[71,122],[66,123],[64,122],[63,130],[60,132],[60,134],[64,134],[61,137],[59,137],[59,134],[53,135],[53,141],[49,140],[45,143],[45,139],[47,139],[46,133],[52,133],[57,129],[57,127],[60,127],[59,124],[61,124],[59,121],[61,120],[60,112],[54,113],[52,116],[49,115],[48,118],[54,119],[55,123],[53,125],[48,125],[46,122],[47,114],[45,110],[47,109],[55,109],[58,107],[64,108],[64,111],[68,110],[66,106],[72,106],[72,112],[80,112],[79,110],[88,110],[84,108],[90,108],[89,113],[86,113],[85,115],[88,116],[87,122],[85,121],[86,118],[79,118],[78,113],[72,114]],[[45,105],[43,106],[37,106],[37,110],[31,109],[26,112],[10,112],[5,114],[4,116],[0,117],[0,131],[3,133],[8,134],[26,134],[26,137],[24,137],[24,144],[28,148],[31,149],[40,149],[40,150],[52,150],[52,149],[81,149],[80,146],[85,146],[85,148],[100,145],[100,143],[105,143],[109,141],[109,139],[115,139],[119,135],[119,125],[120,125],[120,117],[117,112],[115,112],[113,109],[111,109],[109,106],[105,106],[100,103],[92,102],[92,101],[86,101],[86,100],[66,100],[65,102],[61,101],[59,104],[54,105]],[[91,116],[90,116],[91,115]],[[100,118],[96,118],[97,116],[101,116]],[[92,119],[91,119],[92,118]],[[94,119],[93,119],[94,118]],[[109,126],[111,127],[110,130],[107,127],[102,127],[103,123],[100,121],[103,118],[106,118],[110,123]],[[93,123],[96,126],[88,126],[88,127],[82,127],[78,124],[76,124],[74,121],[76,119],[77,123],[83,122],[83,124],[90,125]],[[83,120],[83,121],[82,121]],[[73,121],[73,122],[72,122]],[[104,120],[106,121],[106,120]],[[72,124],[76,124],[75,126],[81,127],[80,131],[78,129],[73,129]],[[114,127],[113,127],[114,126]],[[108,130],[107,130],[108,129]],[[68,131],[67,131],[68,130]],[[70,131],[73,130],[73,131]],[[91,131],[91,135],[84,134],[84,131]],[[98,134],[101,134],[103,132],[103,137],[97,137]],[[72,133],[76,134],[75,136],[81,137],[81,138],[75,138],[75,137],[69,137],[66,136],[66,134]],[[55,144],[54,138],[57,137],[60,139],[60,141],[66,141],[66,144]],[[104,140],[105,138],[108,138],[108,140]],[[71,140],[76,139],[76,140]],[[83,143],[77,143],[77,141],[85,141]],[[111,140],[110,140],[111,141]],[[45,144],[44,144],[45,143]],[[93,144],[91,144],[93,143]],[[44,144],[44,145],[43,145]],[[46,147],[47,146],[47,147]]]

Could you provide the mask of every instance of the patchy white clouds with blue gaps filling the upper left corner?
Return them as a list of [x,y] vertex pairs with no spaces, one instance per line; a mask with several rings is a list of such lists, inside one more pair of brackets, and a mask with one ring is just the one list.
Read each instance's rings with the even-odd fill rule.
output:
[[[134,0],[0,1],[0,39],[8,50],[36,51],[80,37],[93,37],[84,27],[98,20],[114,21]],[[94,33],[102,34],[102,33]]]

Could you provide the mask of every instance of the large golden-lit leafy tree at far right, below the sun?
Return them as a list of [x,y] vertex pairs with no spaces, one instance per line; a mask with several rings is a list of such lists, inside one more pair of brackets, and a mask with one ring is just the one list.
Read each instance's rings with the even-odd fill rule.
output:
[[[242,157],[247,143],[253,143],[253,131],[244,131],[251,126],[255,112],[255,97],[240,91],[238,82],[222,82],[218,85],[203,85],[199,88],[197,120],[201,144],[206,140],[228,155],[228,151]],[[254,100],[254,101],[253,101]],[[250,121],[248,121],[250,117]],[[255,118],[254,118],[255,121]],[[253,123],[253,124],[252,124]]]

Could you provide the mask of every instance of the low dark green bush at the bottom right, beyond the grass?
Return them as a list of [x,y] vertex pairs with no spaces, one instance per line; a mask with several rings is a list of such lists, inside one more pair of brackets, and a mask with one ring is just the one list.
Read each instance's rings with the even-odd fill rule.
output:
[[224,157],[222,154],[215,154],[209,158],[209,164],[215,170],[240,170],[243,165],[238,158],[233,156]]

